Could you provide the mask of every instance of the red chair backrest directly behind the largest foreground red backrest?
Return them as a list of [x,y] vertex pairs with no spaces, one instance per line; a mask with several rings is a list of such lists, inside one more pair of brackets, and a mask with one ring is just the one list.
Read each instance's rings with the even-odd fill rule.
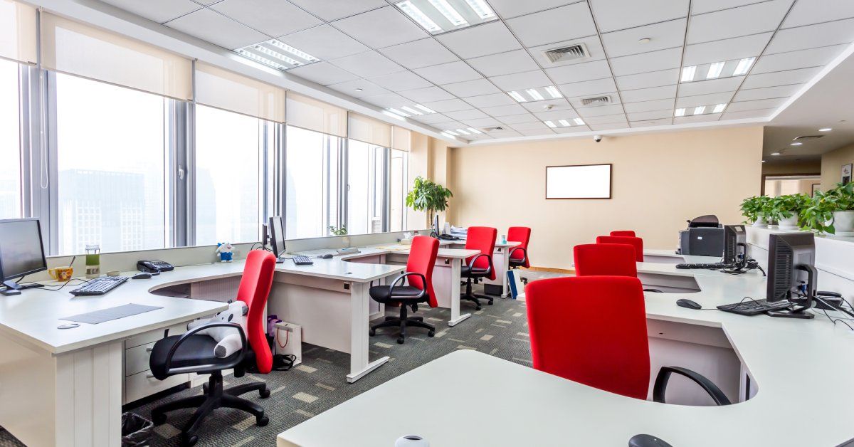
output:
[[574,254],[576,276],[638,276],[635,249],[627,244],[576,245]]

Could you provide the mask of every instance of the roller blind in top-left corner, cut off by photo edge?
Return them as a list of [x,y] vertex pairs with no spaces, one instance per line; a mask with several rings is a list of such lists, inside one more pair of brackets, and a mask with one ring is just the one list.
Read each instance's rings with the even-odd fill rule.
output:
[[0,57],[36,64],[36,9],[0,0]]

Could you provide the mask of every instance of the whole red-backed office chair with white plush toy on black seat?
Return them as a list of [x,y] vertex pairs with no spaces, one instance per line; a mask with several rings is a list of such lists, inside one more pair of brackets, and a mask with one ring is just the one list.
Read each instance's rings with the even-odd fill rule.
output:
[[[243,278],[240,280],[240,288],[237,289],[237,299],[249,307],[246,325],[249,342],[247,334],[243,333],[243,327],[239,324],[218,321],[194,327],[183,335],[161,338],[152,348],[149,366],[156,379],[163,380],[182,373],[210,374],[208,384],[203,386],[202,395],[164,403],[151,410],[151,418],[155,424],[162,424],[166,422],[166,413],[169,411],[197,408],[181,431],[181,444],[196,444],[196,431],[202,425],[202,420],[214,409],[225,407],[246,411],[255,416],[257,426],[266,426],[269,422],[263,408],[238,397],[249,391],[258,391],[260,397],[269,397],[270,391],[267,390],[266,383],[237,385],[224,391],[222,371],[234,368],[234,377],[243,377],[247,370],[269,373],[272,369],[272,353],[266,341],[264,309],[275,268],[276,256],[269,251],[252,250],[246,258]],[[216,326],[233,327],[237,330],[243,342],[243,349],[223,358],[214,356],[213,347],[217,344],[216,341],[208,335],[196,335],[196,332]]]

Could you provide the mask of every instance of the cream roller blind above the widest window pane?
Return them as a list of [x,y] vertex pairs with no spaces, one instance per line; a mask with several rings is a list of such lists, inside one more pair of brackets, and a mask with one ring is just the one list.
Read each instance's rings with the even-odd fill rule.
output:
[[41,14],[44,68],[165,97],[192,98],[189,59],[113,32]]

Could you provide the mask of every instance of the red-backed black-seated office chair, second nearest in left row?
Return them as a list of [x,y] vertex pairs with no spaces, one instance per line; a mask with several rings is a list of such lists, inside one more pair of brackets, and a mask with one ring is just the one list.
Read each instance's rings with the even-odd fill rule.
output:
[[[433,292],[433,267],[436,265],[436,253],[439,251],[439,239],[428,236],[412,238],[412,248],[409,250],[407,271],[395,278],[391,285],[375,285],[368,293],[374,301],[383,304],[400,304],[401,317],[385,317],[382,323],[371,326],[371,336],[380,327],[401,326],[401,335],[397,343],[403,343],[407,335],[407,326],[424,327],[428,337],[436,334],[436,327],[424,322],[420,316],[407,317],[407,306],[412,312],[418,311],[418,303],[429,303],[435,308],[436,293]],[[407,279],[409,285],[397,285],[402,279]]]

